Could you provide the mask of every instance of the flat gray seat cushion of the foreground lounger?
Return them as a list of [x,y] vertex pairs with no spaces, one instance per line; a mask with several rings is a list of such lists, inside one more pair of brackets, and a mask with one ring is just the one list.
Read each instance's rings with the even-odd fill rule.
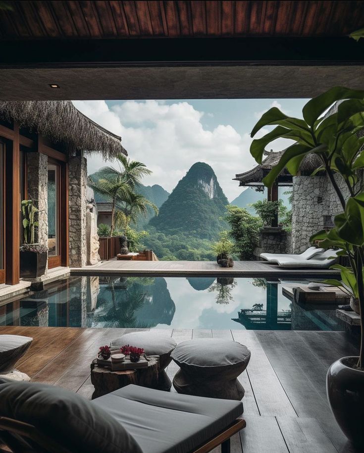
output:
[[133,436],[143,453],[187,453],[243,413],[237,401],[166,393],[128,385],[93,400]]

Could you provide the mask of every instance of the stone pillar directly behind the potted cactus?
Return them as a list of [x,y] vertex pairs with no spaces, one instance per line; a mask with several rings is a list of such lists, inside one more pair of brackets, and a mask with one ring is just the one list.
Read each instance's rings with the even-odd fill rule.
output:
[[48,156],[45,154],[27,152],[27,186],[28,200],[33,200],[39,209],[35,241],[48,246]]

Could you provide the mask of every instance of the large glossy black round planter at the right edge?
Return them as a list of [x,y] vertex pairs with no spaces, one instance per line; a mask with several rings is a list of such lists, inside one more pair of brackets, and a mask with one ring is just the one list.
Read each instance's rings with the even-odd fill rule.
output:
[[364,371],[350,368],[358,357],[342,357],[334,362],[326,378],[331,410],[346,437],[364,448]]

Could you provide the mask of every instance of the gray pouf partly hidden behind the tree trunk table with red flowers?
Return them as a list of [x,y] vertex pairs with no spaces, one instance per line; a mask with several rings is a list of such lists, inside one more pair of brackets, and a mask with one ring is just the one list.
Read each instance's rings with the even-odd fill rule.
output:
[[120,348],[124,345],[143,348],[147,355],[159,355],[158,390],[169,391],[172,383],[165,372],[171,362],[171,352],[176,347],[175,340],[168,336],[153,332],[132,332],[125,334],[111,342],[112,347]]

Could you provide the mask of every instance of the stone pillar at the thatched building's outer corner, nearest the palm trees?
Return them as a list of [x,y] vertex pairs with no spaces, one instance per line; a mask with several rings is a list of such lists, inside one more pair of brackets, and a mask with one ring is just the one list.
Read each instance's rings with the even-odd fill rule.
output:
[[87,161],[73,156],[68,162],[68,237],[69,265],[86,265],[86,206],[87,206]]

